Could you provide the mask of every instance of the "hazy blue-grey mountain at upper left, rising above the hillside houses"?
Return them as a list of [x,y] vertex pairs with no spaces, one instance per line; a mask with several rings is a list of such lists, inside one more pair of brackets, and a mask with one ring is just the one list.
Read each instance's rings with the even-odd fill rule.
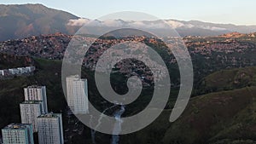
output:
[[0,40],[33,35],[75,31],[66,25],[78,17],[67,12],[49,9],[42,4],[0,5]]

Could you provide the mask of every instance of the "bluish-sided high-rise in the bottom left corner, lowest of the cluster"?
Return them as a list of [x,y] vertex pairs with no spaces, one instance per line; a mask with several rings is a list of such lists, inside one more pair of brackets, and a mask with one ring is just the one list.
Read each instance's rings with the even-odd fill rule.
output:
[[32,124],[9,124],[2,129],[3,144],[33,144]]

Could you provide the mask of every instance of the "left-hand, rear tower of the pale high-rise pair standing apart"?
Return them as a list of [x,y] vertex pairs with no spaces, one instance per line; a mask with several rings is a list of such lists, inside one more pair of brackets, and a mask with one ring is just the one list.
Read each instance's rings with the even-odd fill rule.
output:
[[74,110],[74,94],[73,94],[73,81],[79,80],[79,75],[69,76],[66,78],[67,83],[67,105]]

